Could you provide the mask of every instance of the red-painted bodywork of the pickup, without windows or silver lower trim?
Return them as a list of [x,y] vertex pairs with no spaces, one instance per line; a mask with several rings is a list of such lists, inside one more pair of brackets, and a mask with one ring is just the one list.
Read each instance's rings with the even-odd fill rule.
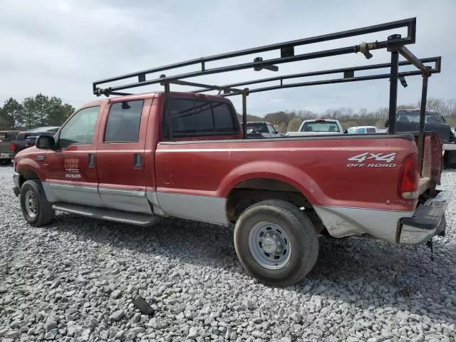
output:
[[[192,93],[172,95],[196,96]],[[212,98],[210,95],[198,96]],[[213,98],[230,103],[225,98]],[[135,99],[145,99],[139,142],[104,144],[109,103]],[[413,140],[369,136],[240,140],[242,130],[239,129],[239,134],[234,136],[180,138],[160,142],[164,94],[128,95],[86,106],[100,103],[103,108],[95,129],[96,142],[85,147],[70,147],[66,153],[77,155],[81,152],[86,155],[89,151],[96,152],[95,163],[102,187],[227,197],[240,182],[268,178],[293,185],[314,205],[398,211],[415,209],[416,200],[405,201],[398,195],[400,166],[405,157],[417,153]],[[437,150],[432,150],[433,159],[439,157],[435,152]],[[140,170],[133,169],[133,152],[143,153]],[[383,155],[395,152],[395,160],[390,162],[395,166],[348,166],[355,163],[348,158],[363,152]],[[33,160],[37,153],[46,153],[50,165],[37,165]],[[58,152],[32,147],[20,152],[15,162],[18,170],[21,167],[33,167],[42,180],[66,181],[62,180],[63,167]],[[366,160],[364,164],[375,165],[375,161]],[[86,173],[79,182],[97,182],[96,171],[88,170],[86,162],[81,161],[80,169]]]

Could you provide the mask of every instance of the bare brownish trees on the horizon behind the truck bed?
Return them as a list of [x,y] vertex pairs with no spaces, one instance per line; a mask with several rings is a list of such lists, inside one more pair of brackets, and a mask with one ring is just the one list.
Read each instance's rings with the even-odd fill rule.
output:
[[[398,105],[398,109],[420,108],[420,101],[405,105]],[[456,100],[442,100],[439,98],[427,99],[427,110],[436,110],[445,118],[452,127],[456,126]],[[268,113],[261,118],[256,115],[247,115],[249,121],[268,121],[280,133],[292,132],[299,129],[303,120],[316,118],[337,119],[344,129],[353,126],[376,126],[385,128],[385,120],[388,118],[388,107],[368,111],[361,108],[355,112],[352,108],[330,108],[325,113],[314,113],[311,110],[296,110]]]

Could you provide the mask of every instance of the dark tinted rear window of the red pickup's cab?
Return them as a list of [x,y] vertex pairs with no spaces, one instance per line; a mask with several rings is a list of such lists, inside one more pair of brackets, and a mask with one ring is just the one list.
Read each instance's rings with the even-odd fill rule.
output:
[[[169,102],[172,138],[239,133],[237,114],[227,102],[205,98],[170,98]],[[167,118],[162,123],[162,135],[167,138]]]

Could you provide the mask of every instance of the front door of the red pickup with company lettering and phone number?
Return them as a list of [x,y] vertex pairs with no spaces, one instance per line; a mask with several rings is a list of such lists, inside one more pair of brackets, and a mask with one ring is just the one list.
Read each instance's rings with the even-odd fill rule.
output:
[[44,187],[50,202],[102,206],[95,157],[103,107],[78,110],[56,135],[56,150],[46,155]]

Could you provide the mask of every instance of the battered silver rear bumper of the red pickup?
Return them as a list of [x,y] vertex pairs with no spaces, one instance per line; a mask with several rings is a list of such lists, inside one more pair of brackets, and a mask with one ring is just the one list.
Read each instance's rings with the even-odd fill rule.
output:
[[435,235],[445,235],[445,209],[451,192],[442,191],[415,210],[412,217],[400,220],[399,244],[425,244]]

